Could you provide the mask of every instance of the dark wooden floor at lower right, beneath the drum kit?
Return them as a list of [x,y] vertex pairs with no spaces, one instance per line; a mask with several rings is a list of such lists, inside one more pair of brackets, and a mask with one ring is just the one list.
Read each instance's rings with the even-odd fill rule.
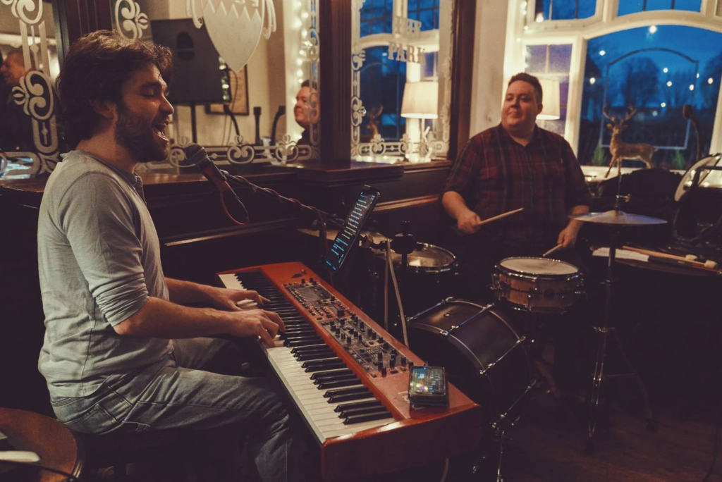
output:
[[[624,390],[632,393],[633,388]],[[509,431],[504,481],[702,481],[712,460],[721,407],[708,401],[701,405],[683,421],[679,402],[660,400],[655,406],[658,431],[651,433],[641,414],[614,403],[608,423],[596,432],[595,452],[584,455],[586,410],[574,415],[551,395],[536,398]],[[708,481],[722,482],[722,460]]]

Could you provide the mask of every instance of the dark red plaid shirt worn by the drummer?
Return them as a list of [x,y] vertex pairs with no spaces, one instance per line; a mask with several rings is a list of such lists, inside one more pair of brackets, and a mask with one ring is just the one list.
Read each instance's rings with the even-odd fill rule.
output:
[[482,227],[484,235],[510,244],[553,245],[573,206],[591,194],[567,141],[539,127],[527,146],[499,124],[469,140],[444,188],[464,196],[483,219],[524,208]]

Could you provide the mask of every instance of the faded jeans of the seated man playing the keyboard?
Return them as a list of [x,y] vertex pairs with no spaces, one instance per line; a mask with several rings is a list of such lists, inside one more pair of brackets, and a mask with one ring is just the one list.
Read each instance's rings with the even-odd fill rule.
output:
[[[58,420],[88,434],[165,429],[238,427],[248,436],[248,455],[263,481],[303,479],[297,442],[276,390],[264,378],[218,374],[240,355],[216,338],[173,341],[169,359],[131,374],[111,376],[84,398],[53,398]],[[226,365],[228,370],[224,370]]]

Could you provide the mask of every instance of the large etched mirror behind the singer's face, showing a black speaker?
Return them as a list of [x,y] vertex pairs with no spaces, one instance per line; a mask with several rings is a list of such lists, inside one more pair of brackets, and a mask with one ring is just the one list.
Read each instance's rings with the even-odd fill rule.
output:
[[[113,27],[173,51],[173,145],[219,165],[318,159],[317,0],[111,0]],[[255,45],[255,48],[253,46]],[[247,61],[247,62],[246,62]]]

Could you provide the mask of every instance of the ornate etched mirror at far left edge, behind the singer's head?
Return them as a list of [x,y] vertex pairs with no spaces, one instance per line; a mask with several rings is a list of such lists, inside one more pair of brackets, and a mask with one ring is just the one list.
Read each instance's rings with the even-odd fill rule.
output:
[[51,172],[60,160],[57,43],[50,1],[0,4],[0,179]]

